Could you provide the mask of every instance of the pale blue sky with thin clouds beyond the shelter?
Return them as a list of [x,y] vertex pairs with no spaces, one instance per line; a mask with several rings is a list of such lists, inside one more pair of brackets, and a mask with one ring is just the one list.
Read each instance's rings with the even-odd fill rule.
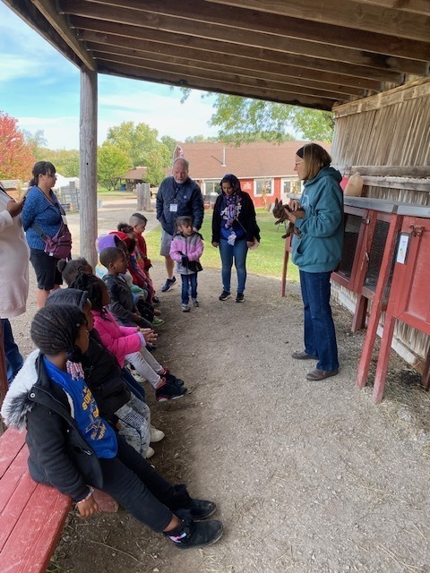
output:
[[[80,72],[54,47],[0,2],[0,111],[20,129],[42,130],[50,149],[79,148]],[[193,90],[185,104],[168,86],[99,74],[99,144],[123,121],[145,123],[184,141],[216,135],[208,126],[211,98]]]

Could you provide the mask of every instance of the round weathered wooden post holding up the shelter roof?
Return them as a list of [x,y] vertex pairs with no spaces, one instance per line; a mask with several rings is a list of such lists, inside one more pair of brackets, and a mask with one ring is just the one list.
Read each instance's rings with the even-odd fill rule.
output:
[[97,264],[97,72],[81,70],[80,122],[81,255]]

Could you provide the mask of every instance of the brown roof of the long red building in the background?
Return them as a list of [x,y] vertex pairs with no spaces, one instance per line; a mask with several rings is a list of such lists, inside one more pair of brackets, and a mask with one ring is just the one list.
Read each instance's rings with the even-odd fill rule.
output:
[[[190,176],[193,179],[220,179],[226,173],[233,173],[239,178],[286,176],[295,175],[296,151],[308,142],[285,141],[276,144],[260,141],[239,147],[222,142],[177,143],[176,155],[183,155],[190,162]],[[329,144],[319,143],[330,151]]]

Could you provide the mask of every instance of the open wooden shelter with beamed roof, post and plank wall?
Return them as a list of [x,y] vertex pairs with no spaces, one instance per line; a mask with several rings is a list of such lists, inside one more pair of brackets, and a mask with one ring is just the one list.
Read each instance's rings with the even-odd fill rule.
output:
[[[99,73],[334,111],[343,175],[359,170],[367,198],[430,203],[425,0],[4,4],[81,69],[81,248],[93,264]],[[399,337],[426,355],[428,338]]]

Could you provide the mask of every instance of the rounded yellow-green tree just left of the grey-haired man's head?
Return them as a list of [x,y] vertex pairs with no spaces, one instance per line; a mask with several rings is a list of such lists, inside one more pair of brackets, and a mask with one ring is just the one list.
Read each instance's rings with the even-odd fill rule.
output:
[[107,141],[125,151],[133,167],[147,167],[146,179],[154,185],[164,178],[164,168],[171,162],[168,148],[158,137],[158,131],[148,124],[123,122],[107,130]]

